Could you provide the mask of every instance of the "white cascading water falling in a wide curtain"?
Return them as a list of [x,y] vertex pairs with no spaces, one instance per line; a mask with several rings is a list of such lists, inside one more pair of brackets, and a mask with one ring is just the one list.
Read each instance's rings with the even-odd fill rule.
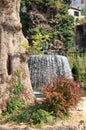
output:
[[33,89],[41,88],[57,76],[72,79],[71,69],[65,56],[44,55],[39,57],[32,55],[28,65]]

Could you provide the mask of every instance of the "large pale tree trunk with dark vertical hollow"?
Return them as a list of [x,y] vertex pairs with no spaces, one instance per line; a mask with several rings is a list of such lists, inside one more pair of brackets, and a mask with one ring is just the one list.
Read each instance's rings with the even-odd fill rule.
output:
[[6,109],[16,70],[20,70],[25,86],[22,100],[26,104],[34,102],[25,50],[20,45],[27,40],[22,34],[19,9],[20,0],[0,0],[0,111]]

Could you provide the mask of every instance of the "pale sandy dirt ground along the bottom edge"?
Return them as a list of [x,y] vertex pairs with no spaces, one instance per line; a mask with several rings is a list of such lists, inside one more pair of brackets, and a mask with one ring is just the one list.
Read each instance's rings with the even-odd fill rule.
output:
[[[71,130],[86,130],[86,111],[71,111],[70,112],[71,116],[68,120],[61,120],[56,122],[54,125],[50,126],[50,125],[45,125],[45,126],[41,126],[41,127],[35,127],[35,128],[31,128],[29,127],[29,125],[26,124],[3,124],[0,123],[0,130],[60,130],[57,129],[59,127],[62,127],[61,130],[66,130],[63,129],[63,127],[72,127]],[[74,127],[78,127],[78,129],[74,129]],[[81,127],[84,126],[84,129],[81,129]],[[51,128],[51,129],[50,129]],[[68,129],[69,130],[69,129]]]

